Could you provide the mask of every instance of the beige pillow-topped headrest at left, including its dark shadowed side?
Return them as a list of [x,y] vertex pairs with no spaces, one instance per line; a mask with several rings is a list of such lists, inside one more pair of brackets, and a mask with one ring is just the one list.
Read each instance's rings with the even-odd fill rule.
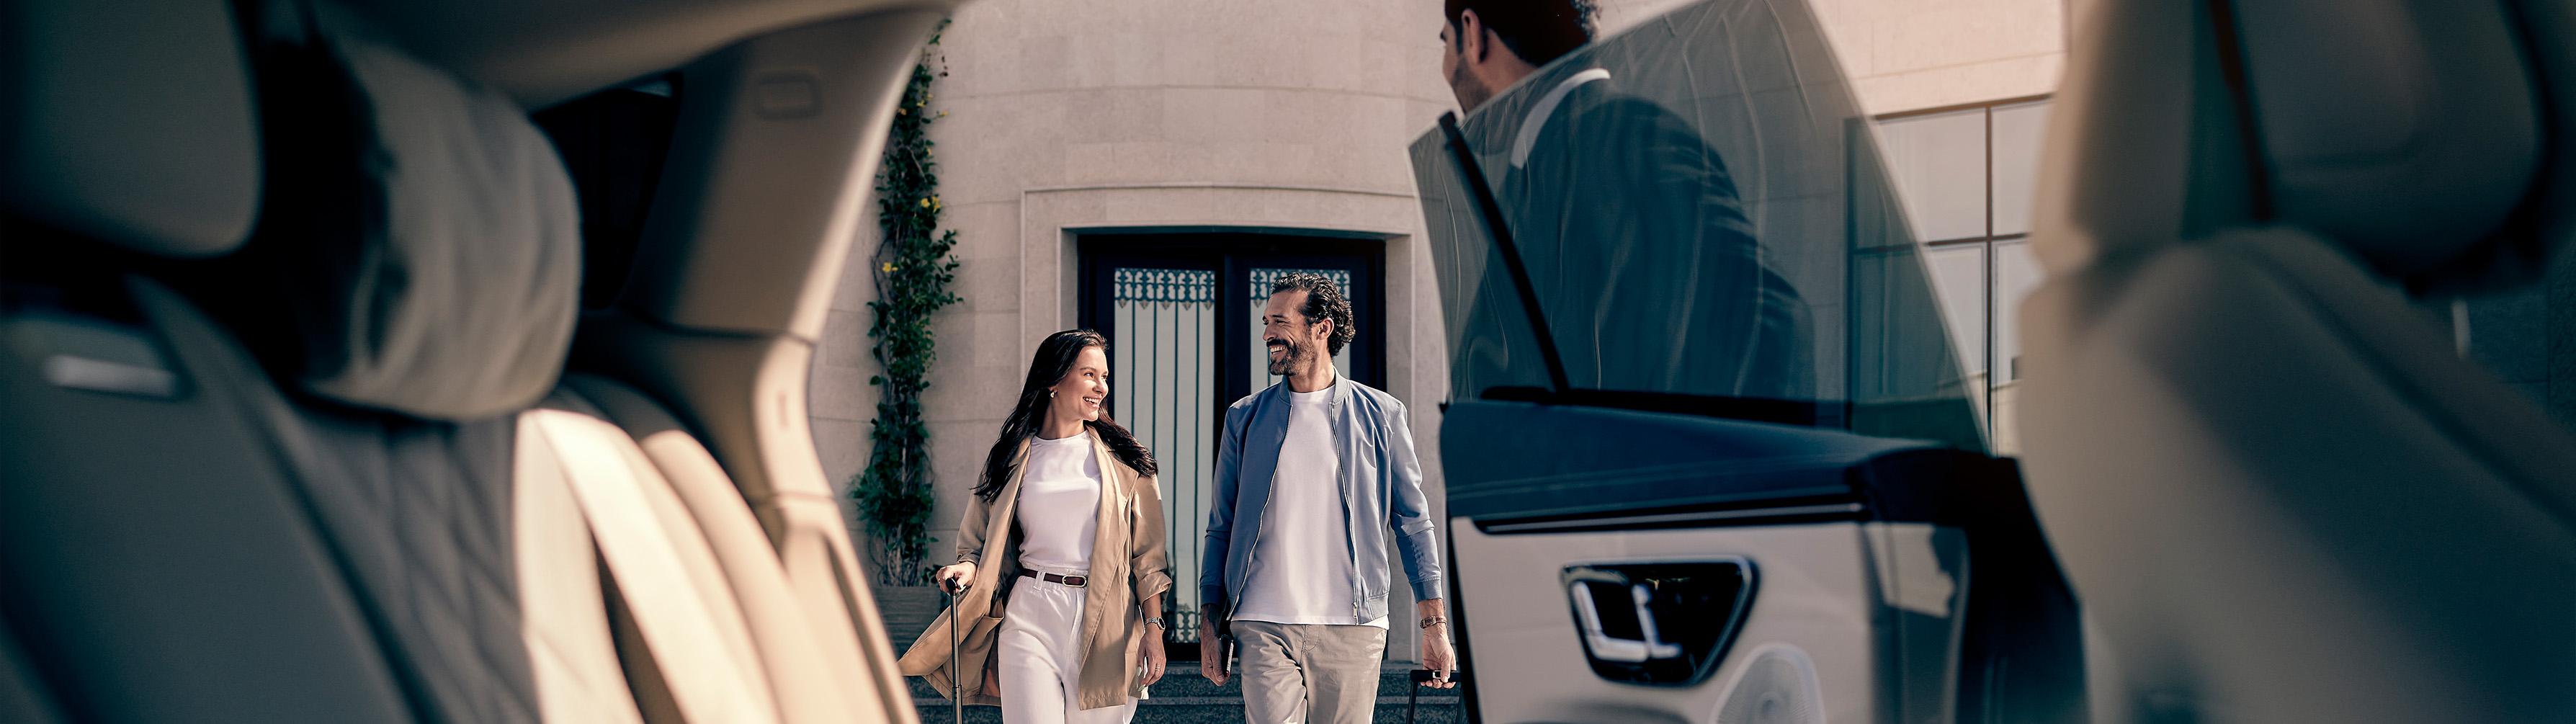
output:
[[337,5],[270,3],[260,26],[260,227],[196,271],[198,301],[332,402],[479,420],[544,399],[582,263],[554,144]]

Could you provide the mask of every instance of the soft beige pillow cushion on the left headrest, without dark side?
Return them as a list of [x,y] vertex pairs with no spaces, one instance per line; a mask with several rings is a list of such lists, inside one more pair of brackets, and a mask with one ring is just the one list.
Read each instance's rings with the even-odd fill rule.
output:
[[[433,420],[518,412],[554,389],[580,312],[580,216],[554,144],[510,98],[428,67],[322,5],[366,95],[384,229],[363,240],[322,397]],[[330,358],[330,356],[325,356]]]

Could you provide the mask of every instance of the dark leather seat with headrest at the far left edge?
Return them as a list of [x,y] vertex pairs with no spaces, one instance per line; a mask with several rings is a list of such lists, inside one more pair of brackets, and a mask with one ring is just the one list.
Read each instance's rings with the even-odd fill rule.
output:
[[260,142],[232,10],[0,3],[0,716],[410,721],[242,350],[155,258],[242,245]]

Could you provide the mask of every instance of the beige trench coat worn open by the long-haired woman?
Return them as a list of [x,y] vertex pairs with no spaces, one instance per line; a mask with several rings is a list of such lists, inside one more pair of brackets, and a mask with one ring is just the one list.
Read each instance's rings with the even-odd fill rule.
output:
[[[1100,456],[1100,531],[1092,536],[1092,575],[1082,593],[1079,709],[1128,701],[1136,691],[1136,639],[1144,636],[1144,613],[1136,611],[1136,600],[1172,590],[1162,533],[1162,490],[1151,477],[1121,464],[1100,443],[1100,435],[1092,435],[1092,453]],[[1025,461],[1028,443],[1020,443],[1002,492],[989,502],[969,497],[966,518],[958,520],[958,562],[976,564],[974,587],[958,598],[956,608],[933,618],[899,662],[904,675],[927,678],[933,688],[945,693],[948,618],[963,616],[958,618],[958,670],[966,678],[966,703],[1002,703],[1002,691],[992,680],[992,647],[1002,634],[1005,600],[994,600],[994,593],[1020,575],[1015,513]]]

